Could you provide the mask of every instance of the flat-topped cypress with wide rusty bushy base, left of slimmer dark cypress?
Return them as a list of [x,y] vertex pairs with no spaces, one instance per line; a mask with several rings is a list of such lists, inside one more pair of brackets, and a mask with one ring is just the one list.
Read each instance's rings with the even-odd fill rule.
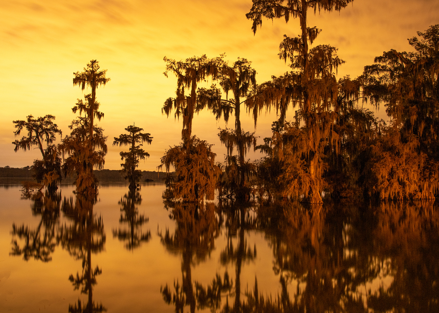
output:
[[[166,198],[179,201],[202,201],[204,198],[213,199],[215,184],[221,169],[215,165],[215,153],[212,145],[192,136],[192,120],[197,108],[197,84],[209,77],[215,79],[218,75],[216,62],[218,59],[202,57],[187,58],[175,61],[164,58],[168,76],[171,72],[177,77],[175,98],[168,98],[162,108],[167,116],[174,110],[175,117],[183,119],[180,145],[170,147],[162,157],[162,165],[169,172],[171,166],[175,176],[168,176],[166,181]],[[186,93],[188,91],[188,94]]]

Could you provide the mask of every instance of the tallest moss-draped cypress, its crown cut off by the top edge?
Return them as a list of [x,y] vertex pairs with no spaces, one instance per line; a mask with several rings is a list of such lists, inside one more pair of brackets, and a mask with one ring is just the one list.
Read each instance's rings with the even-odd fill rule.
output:
[[[263,18],[299,20],[301,34],[284,36],[279,57],[289,61],[292,71],[256,88],[248,105],[257,112],[275,106],[280,113],[281,131],[273,133],[273,153],[282,163],[284,196],[301,197],[303,201],[321,202],[324,188],[323,153],[327,145],[336,144],[339,136],[332,130],[336,114],[333,108],[338,95],[335,72],[344,63],[334,47],[319,45],[309,48],[320,33],[309,27],[308,11],[340,11],[351,0],[253,0],[246,14],[253,21],[252,30],[262,25]],[[285,123],[288,106],[297,108],[295,122]]]

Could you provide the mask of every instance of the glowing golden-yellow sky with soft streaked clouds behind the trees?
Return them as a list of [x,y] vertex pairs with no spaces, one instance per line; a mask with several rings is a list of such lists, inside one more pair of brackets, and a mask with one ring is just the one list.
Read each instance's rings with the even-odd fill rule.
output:
[[[105,114],[99,125],[108,136],[104,167],[120,169],[121,149],[112,147],[113,137],[135,122],[154,137],[144,147],[151,157],[139,169],[156,170],[165,149],[181,137],[181,120],[161,113],[176,87],[175,77],[163,75],[164,56],[180,60],[226,53],[230,62],[247,58],[258,72],[258,83],[288,71],[277,58],[278,47],[284,34],[299,34],[298,21],[266,20],[253,36],[252,22],[245,18],[251,6],[251,0],[0,1],[0,166],[23,167],[41,158],[36,150],[14,152],[13,120],[52,114],[63,133],[70,133],[67,126],[75,118],[71,108],[83,97],[73,87],[73,72],[96,59],[111,78],[97,90]],[[309,17],[310,26],[323,30],[315,44],[337,47],[346,61],[338,76],[351,77],[383,51],[410,50],[407,38],[438,23],[437,0],[355,0],[340,13]],[[385,117],[383,109],[377,115]],[[254,130],[252,119],[243,119],[244,129]],[[275,119],[272,113],[258,121],[260,142],[270,136]],[[194,118],[193,134],[215,144],[216,160],[223,161],[226,150],[217,138],[218,127],[224,123],[202,112]]]

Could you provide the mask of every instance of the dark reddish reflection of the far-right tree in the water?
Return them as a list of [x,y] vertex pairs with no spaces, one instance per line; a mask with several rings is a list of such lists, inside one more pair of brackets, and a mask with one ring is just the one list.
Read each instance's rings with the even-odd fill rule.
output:
[[376,210],[374,258],[392,275],[388,287],[368,296],[378,312],[439,312],[439,211],[432,202],[391,202]]

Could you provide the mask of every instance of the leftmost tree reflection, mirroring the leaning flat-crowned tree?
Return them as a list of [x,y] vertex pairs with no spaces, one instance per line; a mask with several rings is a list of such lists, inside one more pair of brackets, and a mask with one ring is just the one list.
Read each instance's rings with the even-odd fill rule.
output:
[[[12,251],[10,255],[23,255],[23,259],[43,262],[52,260],[51,254],[58,245],[57,226],[60,217],[61,192],[23,193],[22,199],[31,199],[33,216],[40,216],[40,223],[33,229],[23,223],[12,224]],[[21,245],[21,243],[23,243]]]

